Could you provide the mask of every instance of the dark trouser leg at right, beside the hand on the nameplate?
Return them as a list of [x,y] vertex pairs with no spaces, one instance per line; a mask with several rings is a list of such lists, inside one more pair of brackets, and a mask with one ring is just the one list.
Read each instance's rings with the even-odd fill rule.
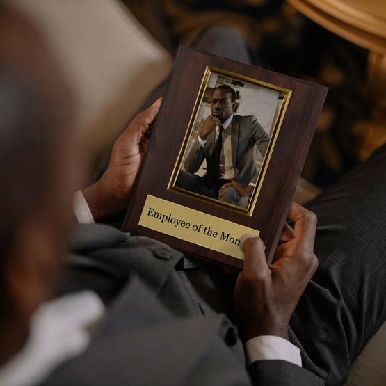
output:
[[[386,319],[386,145],[307,204],[320,266],[291,319],[303,366],[344,383]],[[382,360],[382,358],[380,358]]]

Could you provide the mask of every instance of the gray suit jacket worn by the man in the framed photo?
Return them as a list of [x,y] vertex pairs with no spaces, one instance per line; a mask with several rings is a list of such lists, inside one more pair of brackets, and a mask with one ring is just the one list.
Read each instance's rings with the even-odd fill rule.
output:
[[[242,185],[255,183],[257,180],[256,146],[262,156],[266,155],[269,136],[253,115],[234,115],[231,122],[232,164],[234,166],[234,181]],[[204,159],[208,160],[214,150],[215,132],[212,131],[207,143],[201,147],[198,139],[186,155],[184,167],[187,172],[195,173]]]

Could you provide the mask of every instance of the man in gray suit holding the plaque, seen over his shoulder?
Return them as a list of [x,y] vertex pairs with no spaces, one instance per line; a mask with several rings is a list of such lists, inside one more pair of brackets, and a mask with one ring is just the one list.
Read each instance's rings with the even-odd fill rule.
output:
[[[63,259],[81,171],[74,106],[38,32],[0,10],[0,384],[341,385],[385,320],[386,147],[309,205],[317,233],[316,216],[292,205],[273,264],[262,240],[243,237],[234,300],[245,360],[218,314],[225,286],[177,250],[88,224]],[[117,140],[95,194],[83,192],[91,220],[124,205],[159,105]]]

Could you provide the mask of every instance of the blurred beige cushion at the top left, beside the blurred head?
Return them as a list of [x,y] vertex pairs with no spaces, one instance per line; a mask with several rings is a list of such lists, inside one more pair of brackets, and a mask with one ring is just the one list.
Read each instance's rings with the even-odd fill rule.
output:
[[166,78],[172,60],[115,0],[9,0],[45,34],[95,150],[111,143]]

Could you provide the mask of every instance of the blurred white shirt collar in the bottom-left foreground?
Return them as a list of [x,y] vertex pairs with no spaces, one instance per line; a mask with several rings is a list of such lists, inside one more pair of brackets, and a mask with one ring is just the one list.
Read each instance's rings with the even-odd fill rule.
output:
[[90,342],[87,328],[103,313],[104,305],[92,291],[40,306],[31,319],[24,348],[0,368],[0,385],[42,382],[59,364],[86,350]]

